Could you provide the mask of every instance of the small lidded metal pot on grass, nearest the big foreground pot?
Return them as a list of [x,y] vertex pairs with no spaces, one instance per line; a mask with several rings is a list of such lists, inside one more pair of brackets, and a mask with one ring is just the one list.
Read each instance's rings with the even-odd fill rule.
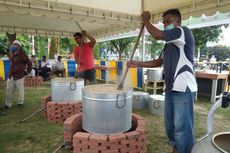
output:
[[149,103],[149,93],[134,91],[132,97],[133,109],[146,109]]

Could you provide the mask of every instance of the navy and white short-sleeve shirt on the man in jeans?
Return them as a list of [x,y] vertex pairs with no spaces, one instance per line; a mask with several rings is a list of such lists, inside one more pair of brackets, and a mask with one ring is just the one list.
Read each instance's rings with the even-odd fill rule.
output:
[[185,92],[186,88],[197,91],[193,68],[195,41],[191,30],[177,27],[164,30],[163,35],[166,41],[162,54],[166,92]]

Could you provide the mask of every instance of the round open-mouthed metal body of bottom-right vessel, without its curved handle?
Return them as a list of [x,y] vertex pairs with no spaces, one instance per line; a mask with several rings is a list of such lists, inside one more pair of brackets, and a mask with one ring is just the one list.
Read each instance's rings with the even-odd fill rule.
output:
[[192,153],[230,153],[230,132],[209,135],[198,141]]

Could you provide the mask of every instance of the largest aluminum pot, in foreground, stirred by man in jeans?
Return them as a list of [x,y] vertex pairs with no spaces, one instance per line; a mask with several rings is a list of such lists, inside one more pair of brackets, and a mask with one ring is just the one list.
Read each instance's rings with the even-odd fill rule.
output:
[[83,129],[90,133],[116,134],[132,125],[132,88],[117,84],[86,86],[83,94]]

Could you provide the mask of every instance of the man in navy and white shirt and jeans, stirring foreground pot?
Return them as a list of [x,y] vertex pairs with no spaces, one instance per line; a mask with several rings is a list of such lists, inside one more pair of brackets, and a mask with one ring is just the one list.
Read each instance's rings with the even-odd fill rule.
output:
[[161,31],[150,22],[148,11],[142,13],[142,21],[150,35],[164,40],[165,46],[157,60],[130,61],[131,67],[159,67],[163,64],[165,79],[165,129],[172,145],[172,153],[191,153],[194,144],[193,103],[197,91],[193,69],[195,41],[192,32],[181,26],[178,9],[163,14],[165,30]]

